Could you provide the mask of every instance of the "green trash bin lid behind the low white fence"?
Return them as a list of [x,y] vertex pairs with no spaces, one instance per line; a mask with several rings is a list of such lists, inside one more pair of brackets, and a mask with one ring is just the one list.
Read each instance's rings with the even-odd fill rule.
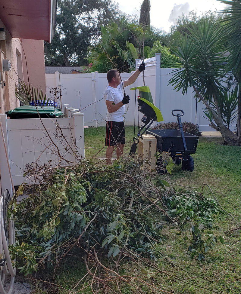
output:
[[[37,109],[38,111],[37,111]],[[62,118],[64,117],[61,109],[57,109],[54,106],[32,106],[24,105],[11,109],[6,112],[10,118]]]

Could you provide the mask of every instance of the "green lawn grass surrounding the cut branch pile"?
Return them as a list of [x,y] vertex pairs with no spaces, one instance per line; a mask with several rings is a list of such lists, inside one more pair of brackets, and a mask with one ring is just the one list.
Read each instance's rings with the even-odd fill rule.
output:
[[[133,127],[126,128],[126,146],[124,149],[126,154],[130,150],[133,130]],[[104,136],[104,127],[85,129],[86,157],[93,157],[97,153],[97,149],[101,151],[96,156],[105,157]],[[190,259],[187,253],[187,244],[182,236],[177,236],[173,229],[164,228],[163,235],[167,237],[167,240],[159,245],[159,250],[182,269],[173,268],[163,260],[159,260],[157,266],[160,271],[167,271],[180,279],[185,277],[189,283],[199,284],[224,294],[240,294],[240,230],[231,233],[225,231],[237,228],[241,222],[241,148],[224,146],[222,142],[221,138],[200,137],[196,154],[193,155],[194,171],[183,171],[181,166],[174,166],[171,175],[162,175],[161,177],[166,177],[172,183],[199,188],[200,191],[204,184],[208,184],[220,205],[232,214],[238,223],[234,222],[227,213],[219,213],[214,216],[214,231],[224,237],[224,244],[218,243],[214,250],[208,252],[206,262],[202,263],[196,259]],[[97,149],[93,149],[92,146]],[[207,186],[203,189],[205,194],[211,194]],[[126,263],[126,267],[130,268],[130,262]],[[72,289],[73,285],[78,283],[85,273],[83,263],[73,261],[71,266],[65,268],[55,278],[55,283],[64,288]],[[184,284],[180,280],[170,278],[162,273],[156,274],[155,282],[161,285],[161,289],[174,293],[211,293],[209,290]],[[65,294],[67,291],[62,289],[60,293]],[[127,286],[122,289],[122,293],[133,292]],[[161,293],[161,291],[157,293]]]

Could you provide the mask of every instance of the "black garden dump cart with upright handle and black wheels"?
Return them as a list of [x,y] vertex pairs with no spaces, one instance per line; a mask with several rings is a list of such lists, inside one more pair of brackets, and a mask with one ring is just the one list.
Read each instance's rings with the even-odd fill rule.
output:
[[[177,113],[177,114],[174,114]],[[180,115],[180,113],[182,113]],[[190,154],[196,153],[198,145],[198,136],[189,134],[183,131],[181,116],[184,115],[183,110],[174,109],[172,115],[177,117],[179,129],[165,129],[165,130],[147,130],[146,133],[153,135],[157,139],[157,151],[158,152],[169,152],[174,163],[179,165],[182,162],[183,170],[194,170],[194,160]],[[166,172],[165,163],[162,158],[157,160],[157,171]]]

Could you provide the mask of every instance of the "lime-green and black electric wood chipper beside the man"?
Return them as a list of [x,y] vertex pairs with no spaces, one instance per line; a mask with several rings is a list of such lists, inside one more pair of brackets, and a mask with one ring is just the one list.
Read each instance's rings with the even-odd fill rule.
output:
[[133,87],[130,90],[139,90],[139,96],[137,98],[138,111],[143,113],[141,121],[144,125],[138,130],[137,137],[133,137],[133,145],[130,150],[130,155],[135,154],[136,145],[139,143],[140,137],[146,132],[146,130],[151,126],[154,121],[163,121],[161,110],[158,109],[152,100],[152,94],[149,86]]

